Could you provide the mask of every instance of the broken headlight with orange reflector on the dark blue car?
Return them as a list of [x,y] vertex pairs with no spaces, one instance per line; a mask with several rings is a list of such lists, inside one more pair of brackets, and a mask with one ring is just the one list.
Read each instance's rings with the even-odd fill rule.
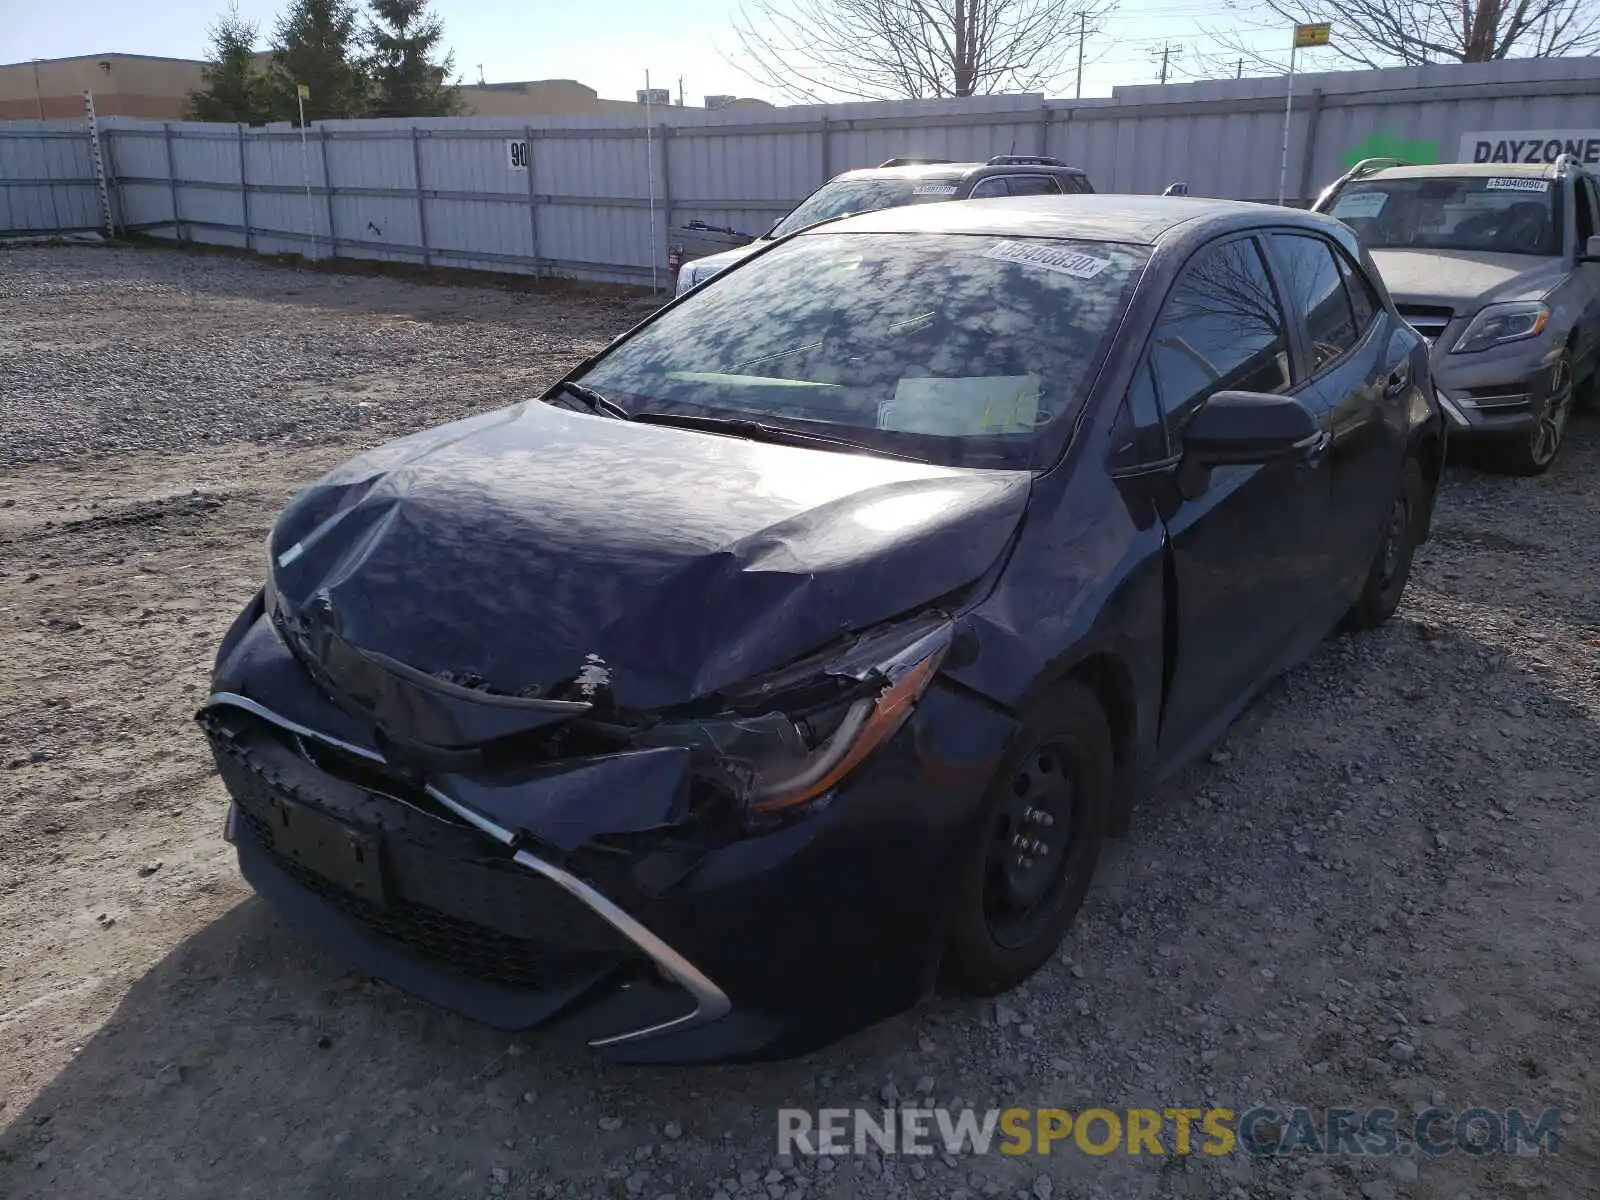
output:
[[646,746],[701,752],[714,781],[758,813],[829,792],[910,717],[928,690],[954,626],[933,614],[867,634],[723,691],[730,712],[658,725]]

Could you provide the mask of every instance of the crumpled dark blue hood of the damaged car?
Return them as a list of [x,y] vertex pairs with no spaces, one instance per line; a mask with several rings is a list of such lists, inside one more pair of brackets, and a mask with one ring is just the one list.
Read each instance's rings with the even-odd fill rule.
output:
[[957,470],[539,402],[374,450],[290,501],[290,613],[427,675],[650,710],[784,666],[978,579],[1027,472]]

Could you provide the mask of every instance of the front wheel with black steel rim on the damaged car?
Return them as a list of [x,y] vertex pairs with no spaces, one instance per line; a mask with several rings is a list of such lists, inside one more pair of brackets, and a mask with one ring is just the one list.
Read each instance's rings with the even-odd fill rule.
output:
[[1094,878],[1112,774],[1106,714],[1082,683],[1053,690],[1024,718],[957,880],[942,963],[955,990],[1008,992],[1056,952]]

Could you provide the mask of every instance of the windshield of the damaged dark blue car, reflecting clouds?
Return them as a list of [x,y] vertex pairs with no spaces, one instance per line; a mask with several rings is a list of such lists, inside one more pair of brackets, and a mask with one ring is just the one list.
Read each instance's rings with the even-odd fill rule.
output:
[[704,411],[1037,469],[1146,258],[1120,243],[811,235],[664,314],[582,382],[635,416]]

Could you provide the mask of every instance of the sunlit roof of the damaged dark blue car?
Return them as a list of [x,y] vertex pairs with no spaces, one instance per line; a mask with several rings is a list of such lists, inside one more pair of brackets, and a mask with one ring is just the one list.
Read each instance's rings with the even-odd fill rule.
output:
[[[814,234],[978,234],[1152,245],[1174,226],[1254,214],[1285,224],[1338,222],[1302,210],[1176,195],[1013,195],[955,205],[880,208],[813,226]],[[800,234],[805,237],[805,234]]]

